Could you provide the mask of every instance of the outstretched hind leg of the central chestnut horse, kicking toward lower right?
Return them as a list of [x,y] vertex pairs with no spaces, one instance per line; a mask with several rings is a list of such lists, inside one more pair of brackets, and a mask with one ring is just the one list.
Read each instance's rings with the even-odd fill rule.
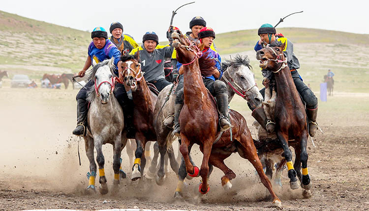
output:
[[251,136],[247,136],[246,133],[243,133],[240,137],[240,143],[241,143],[241,146],[238,147],[238,150],[239,150],[238,152],[240,156],[242,158],[248,159],[248,161],[250,161],[250,163],[254,166],[256,172],[259,175],[261,183],[263,183],[263,185],[266,188],[268,188],[273,198],[272,206],[281,208],[282,207],[281,202],[279,198],[277,197],[276,193],[274,193],[272,184],[268,180],[267,175],[265,175],[264,173],[263,165],[261,164],[260,159],[257,156],[256,148],[255,148],[255,145],[254,145],[254,142]]

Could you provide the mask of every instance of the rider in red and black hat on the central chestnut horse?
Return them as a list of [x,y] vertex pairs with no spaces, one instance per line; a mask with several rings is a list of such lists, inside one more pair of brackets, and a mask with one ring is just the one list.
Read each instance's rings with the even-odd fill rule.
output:
[[[215,59],[215,69],[213,71],[213,75],[211,76],[203,76],[204,85],[213,96],[216,97],[217,106],[220,112],[219,124],[222,131],[229,129],[230,123],[228,120],[228,94],[227,87],[223,81],[220,81],[223,71],[221,69],[221,58],[218,53],[211,49],[213,44],[213,40],[215,39],[215,32],[211,27],[203,27],[199,33],[198,38],[202,44],[204,44],[203,54],[207,54],[211,58]],[[179,74],[183,74],[183,65],[178,62],[177,68],[179,70]],[[176,136],[180,136],[181,128],[179,123],[180,112],[183,107],[183,82],[179,83],[178,86],[181,88],[177,91],[176,101],[174,105],[174,131],[173,134]],[[178,89],[178,87],[177,87]]]

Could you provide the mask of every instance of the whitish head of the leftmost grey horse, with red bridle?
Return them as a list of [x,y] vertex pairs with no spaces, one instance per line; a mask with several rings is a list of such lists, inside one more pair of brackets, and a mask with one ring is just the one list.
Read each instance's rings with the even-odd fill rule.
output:
[[100,98],[101,104],[107,104],[110,94],[113,93],[115,84],[114,68],[114,57],[112,57],[94,65],[88,74],[88,79],[95,81],[94,92]]

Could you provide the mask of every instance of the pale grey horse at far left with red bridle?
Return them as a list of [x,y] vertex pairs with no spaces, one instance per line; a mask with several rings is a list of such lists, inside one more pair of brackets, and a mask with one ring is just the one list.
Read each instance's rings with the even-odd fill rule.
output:
[[104,171],[104,155],[102,145],[109,143],[113,145],[113,170],[115,189],[120,184],[120,177],[124,172],[120,170],[121,153],[127,142],[125,134],[122,135],[124,128],[123,110],[117,99],[112,95],[115,84],[114,77],[114,58],[106,59],[93,66],[87,73],[87,78],[94,80],[95,85],[88,91],[87,100],[91,103],[87,115],[88,131],[84,136],[86,155],[90,161],[90,172],[88,192],[95,191],[96,163],[93,158],[94,148],[96,149],[96,161],[99,165],[99,192],[108,193],[108,185]]

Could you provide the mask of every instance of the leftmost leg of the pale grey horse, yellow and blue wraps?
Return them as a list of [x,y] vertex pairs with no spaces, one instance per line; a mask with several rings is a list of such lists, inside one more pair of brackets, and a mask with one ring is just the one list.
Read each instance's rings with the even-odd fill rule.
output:
[[86,136],[85,150],[87,158],[90,161],[90,172],[87,173],[87,178],[89,179],[89,186],[87,186],[87,191],[95,193],[96,163],[95,158],[93,157],[94,156],[93,149],[94,149],[93,139],[90,136]]

